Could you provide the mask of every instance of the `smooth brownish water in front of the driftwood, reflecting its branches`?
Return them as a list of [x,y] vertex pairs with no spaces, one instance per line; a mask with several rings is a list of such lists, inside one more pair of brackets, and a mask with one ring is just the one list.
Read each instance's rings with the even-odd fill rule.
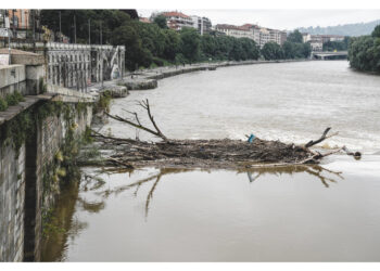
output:
[[377,182],[337,168],[87,168],[62,194],[55,215],[65,231],[46,237],[42,260],[378,259]]

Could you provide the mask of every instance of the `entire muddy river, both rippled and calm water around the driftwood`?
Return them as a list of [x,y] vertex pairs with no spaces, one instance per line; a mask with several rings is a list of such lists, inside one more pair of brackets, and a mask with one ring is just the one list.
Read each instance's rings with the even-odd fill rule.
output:
[[[319,147],[345,144],[364,156],[334,155],[306,170],[99,173],[63,195],[63,231],[43,242],[42,260],[380,260],[379,76],[346,61],[225,67],[163,79],[114,100],[111,113],[142,116],[142,99],[168,138],[305,143],[332,127],[339,136]],[[154,140],[113,120],[102,132]]]

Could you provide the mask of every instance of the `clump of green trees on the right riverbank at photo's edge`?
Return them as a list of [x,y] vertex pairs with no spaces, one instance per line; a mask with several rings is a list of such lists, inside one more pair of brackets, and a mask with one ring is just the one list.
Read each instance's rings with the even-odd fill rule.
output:
[[380,73],[380,25],[371,36],[351,38],[349,61],[358,70]]

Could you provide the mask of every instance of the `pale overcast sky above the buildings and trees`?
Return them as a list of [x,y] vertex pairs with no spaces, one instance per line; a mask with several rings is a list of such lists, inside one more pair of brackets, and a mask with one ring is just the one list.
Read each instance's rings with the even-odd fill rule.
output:
[[[149,17],[160,10],[137,10]],[[166,10],[167,11],[167,10]],[[308,26],[334,26],[380,20],[380,10],[179,10],[187,15],[206,16],[216,24],[258,24],[264,27],[291,30]]]

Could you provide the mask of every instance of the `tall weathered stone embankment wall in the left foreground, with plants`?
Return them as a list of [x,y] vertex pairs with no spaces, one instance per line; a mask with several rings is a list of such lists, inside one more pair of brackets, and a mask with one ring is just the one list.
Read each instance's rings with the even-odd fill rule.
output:
[[[35,127],[20,133],[21,119],[37,115]],[[40,101],[17,117],[0,126],[0,261],[39,260],[42,217],[62,184],[62,150],[90,126],[92,105]]]

